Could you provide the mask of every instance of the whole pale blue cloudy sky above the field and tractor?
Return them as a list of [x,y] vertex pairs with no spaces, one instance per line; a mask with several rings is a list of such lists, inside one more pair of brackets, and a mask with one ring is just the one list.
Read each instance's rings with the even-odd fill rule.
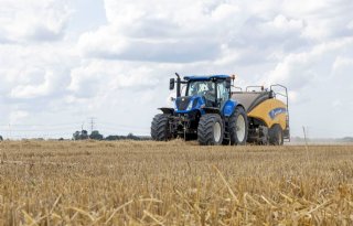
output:
[[0,0],[0,134],[149,134],[178,72],[280,83],[292,136],[353,136],[352,12],[352,0]]

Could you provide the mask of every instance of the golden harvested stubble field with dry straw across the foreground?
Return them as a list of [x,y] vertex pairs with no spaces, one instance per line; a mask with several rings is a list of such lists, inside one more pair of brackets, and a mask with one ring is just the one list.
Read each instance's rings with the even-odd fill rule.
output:
[[353,225],[350,146],[0,146],[0,225]]

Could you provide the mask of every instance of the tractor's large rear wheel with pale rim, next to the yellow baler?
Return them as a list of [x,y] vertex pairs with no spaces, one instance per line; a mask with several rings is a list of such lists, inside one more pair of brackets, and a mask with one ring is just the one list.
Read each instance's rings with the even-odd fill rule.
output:
[[245,146],[247,141],[247,115],[243,107],[236,107],[229,118],[231,146]]

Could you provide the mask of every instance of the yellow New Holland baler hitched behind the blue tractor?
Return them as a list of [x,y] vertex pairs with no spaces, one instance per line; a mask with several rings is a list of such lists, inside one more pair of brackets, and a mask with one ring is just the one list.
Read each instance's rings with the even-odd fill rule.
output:
[[[279,90],[279,92],[278,92]],[[245,92],[232,92],[248,117],[248,142],[284,144],[290,141],[288,92],[282,85],[249,86]]]

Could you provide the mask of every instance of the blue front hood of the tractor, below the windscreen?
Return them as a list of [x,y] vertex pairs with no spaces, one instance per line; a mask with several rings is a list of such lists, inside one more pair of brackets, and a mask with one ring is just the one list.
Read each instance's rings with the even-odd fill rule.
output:
[[205,106],[205,100],[202,96],[184,96],[175,99],[175,112],[178,114],[199,110],[203,106]]

